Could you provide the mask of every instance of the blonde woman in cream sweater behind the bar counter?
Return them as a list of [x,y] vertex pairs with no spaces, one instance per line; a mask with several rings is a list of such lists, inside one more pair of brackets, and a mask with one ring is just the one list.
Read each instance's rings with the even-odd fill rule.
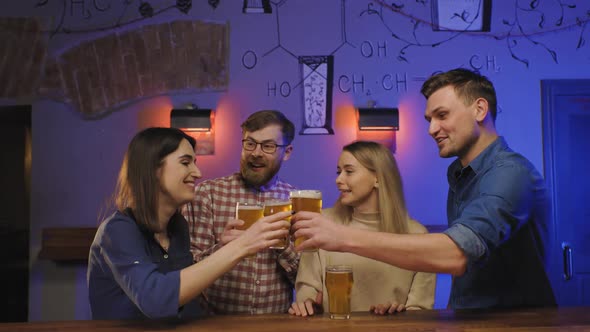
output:
[[[369,141],[346,145],[338,159],[338,201],[326,217],[353,228],[398,234],[427,233],[408,216],[402,181],[391,151]],[[301,256],[295,283],[296,302],[289,313],[308,316],[328,309],[324,271],[334,264],[351,265],[352,311],[390,314],[406,309],[432,309],[436,275],[408,271],[345,252],[318,250]]]

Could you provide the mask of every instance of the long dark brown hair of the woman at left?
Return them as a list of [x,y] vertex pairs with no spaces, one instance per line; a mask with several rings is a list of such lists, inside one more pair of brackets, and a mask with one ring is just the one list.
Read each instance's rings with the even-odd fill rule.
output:
[[117,187],[115,206],[121,212],[131,208],[135,221],[151,231],[160,231],[158,224],[158,169],[167,155],[178,149],[186,139],[193,149],[195,139],[176,128],[147,128],[135,135],[125,157]]

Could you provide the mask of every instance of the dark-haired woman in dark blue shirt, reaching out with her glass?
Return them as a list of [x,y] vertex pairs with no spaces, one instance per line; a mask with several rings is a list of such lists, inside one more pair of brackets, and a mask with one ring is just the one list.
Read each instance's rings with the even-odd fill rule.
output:
[[186,220],[201,171],[195,140],[174,128],[139,132],[125,155],[117,211],[96,233],[88,259],[93,319],[189,317],[199,295],[242,258],[271,246],[288,230],[289,212],[260,219],[206,260],[193,264]]

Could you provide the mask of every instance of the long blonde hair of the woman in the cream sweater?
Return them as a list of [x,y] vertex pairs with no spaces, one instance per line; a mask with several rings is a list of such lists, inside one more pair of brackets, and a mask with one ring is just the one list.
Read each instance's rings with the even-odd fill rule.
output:
[[[371,141],[356,141],[342,148],[349,152],[365,168],[377,177],[379,186],[379,231],[407,234],[408,210],[404,199],[402,180],[393,154],[384,145]],[[349,224],[352,220],[353,208],[345,206],[340,199],[333,208],[334,214]]]

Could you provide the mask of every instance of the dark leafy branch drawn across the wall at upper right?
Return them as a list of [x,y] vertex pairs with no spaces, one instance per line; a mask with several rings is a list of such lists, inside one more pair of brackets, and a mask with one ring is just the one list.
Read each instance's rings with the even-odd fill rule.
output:
[[[416,4],[421,5],[424,8],[426,8],[425,1],[423,1],[423,0],[414,0],[414,1]],[[479,0],[479,2],[480,2],[479,8],[485,8],[485,1],[487,1],[487,0]],[[480,32],[474,33],[474,32],[469,31],[471,29],[471,26],[469,25],[466,29],[464,29],[462,31],[445,32],[446,37],[444,37],[438,41],[428,42],[428,43],[420,41],[422,38],[418,37],[419,28],[421,26],[428,26],[434,30],[437,30],[437,25],[428,21],[428,20],[424,20],[424,19],[421,19],[419,17],[409,14],[407,11],[405,11],[406,5],[403,2],[397,1],[397,2],[386,3],[385,1],[382,1],[382,0],[374,0],[372,3],[369,3],[367,5],[367,9],[363,10],[360,13],[360,16],[367,15],[367,17],[378,18],[378,20],[381,22],[383,27],[391,33],[392,38],[402,42],[403,46],[399,50],[398,56],[397,56],[398,61],[409,62],[407,52],[409,51],[410,48],[438,47],[441,44],[447,43],[459,36],[470,36],[470,37],[485,37],[485,38],[490,38],[490,39],[494,39],[494,40],[506,40],[506,46],[507,46],[507,49],[510,52],[510,55],[512,56],[512,58],[516,61],[521,62],[522,64],[524,64],[528,68],[529,60],[519,56],[516,51],[517,46],[519,46],[521,44],[521,42],[520,42],[521,40],[527,41],[527,42],[531,43],[533,46],[539,46],[539,47],[543,48],[551,56],[551,58],[553,59],[553,61],[555,63],[559,63],[557,52],[554,49],[551,49],[549,46],[545,45],[544,43],[538,41],[535,37],[539,37],[544,34],[554,33],[556,31],[578,28],[580,30],[580,35],[578,38],[576,48],[580,49],[580,48],[584,47],[584,45],[586,43],[584,35],[587,33],[586,26],[588,25],[588,22],[590,22],[590,11],[589,11],[589,12],[586,12],[585,15],[576,16],[575,20],[574,20],[575,22],[565,24],[566,10],[573,10],[576,8],[576,5],[575,4],[567,4],[563,0],[555,0],[554,3],[556,3],[559,6],[558,18],[554,21],[553,24],[548,24],[548,21],[546,18],[549,14],[547,12],[548,9],[542,9],[540,7],[540,3],[541,2],[538,0],[528,0],[528,6],[525,7],[525,6],[519,5],[519,1],[515,0],[514,1],[514,13],[515,13],[514,17],[510,18],[510,19],[508,19],[508,18],[502,19],[502,23],[506,27],[508,27],[507,32],[500,33],[500,34],[491,34],[491,33],[482,34]],[[377,5],[378,8],[376,8],[375,5]],[[411,29],[412,37],[403,37],[403,36],[401,36],[401,34],[399,32],[394,31],[388,25],[387,19],[384,17],[384,12],[383,12],[384,8],[390,10],[391,12],[394,12],[397,15],[400,15],[400,16],[403,16],[403,17],[409,19],[410,23],[412,24],[412,29]],[[555,13],[552,13],[552,14],[555,14]],[[538,24],[537,24],[538,30],[536,30],[536,31],[527,30],[527,27],[525,27],[522,24],[522,22],[523,22],[523,19],[521,18],[522,15],[536,15],[536,16],[538,16]],[[455,18],[462,19],[465,22],[468,22],[468,17],[466,16],[466,13],[464,11],[460,11],[460,12],[457,11],[452,16]],[[431,31],[432,31],[432,29],[431,29]]]

